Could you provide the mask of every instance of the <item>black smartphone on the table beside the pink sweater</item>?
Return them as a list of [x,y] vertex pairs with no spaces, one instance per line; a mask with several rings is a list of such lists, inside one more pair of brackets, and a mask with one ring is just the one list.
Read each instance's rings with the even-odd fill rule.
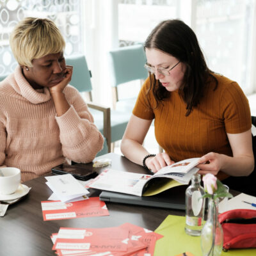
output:
[[89,180],[95,178],[98,173],[90,170],[88,168],[84,168],[83,164],[60,164],[52,168],[52,173],[54,174],[68,174],[70,173],[76,179],[79,180]]

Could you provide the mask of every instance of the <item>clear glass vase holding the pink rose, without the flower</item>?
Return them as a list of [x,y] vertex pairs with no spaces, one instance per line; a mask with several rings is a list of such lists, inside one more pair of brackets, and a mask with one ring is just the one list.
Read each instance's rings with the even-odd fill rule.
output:
[[218,198],[209,198],[207,221],[201,231],[201,249],[203,256],[221,255],[223,230],[218,221]]

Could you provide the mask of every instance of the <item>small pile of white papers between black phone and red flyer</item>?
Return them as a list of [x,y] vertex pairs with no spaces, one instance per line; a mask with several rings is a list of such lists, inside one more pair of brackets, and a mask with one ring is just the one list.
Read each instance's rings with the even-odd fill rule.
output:
[[49,200],[61,200],[61,202],[74,202],[87,198],[89,191],[71,174],[54,175],[45,177],[47,186],[53,194]]

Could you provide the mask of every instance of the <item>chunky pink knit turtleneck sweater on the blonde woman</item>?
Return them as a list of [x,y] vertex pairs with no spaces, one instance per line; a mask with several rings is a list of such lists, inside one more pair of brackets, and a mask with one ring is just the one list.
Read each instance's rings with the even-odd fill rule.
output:
[[64,91],[68,111],[56,116],[48,88],[34,90],[20,67],[0,83],[0,166],[20,168],[33,179],[67,159],[89,163],[103,138],[76,88]]

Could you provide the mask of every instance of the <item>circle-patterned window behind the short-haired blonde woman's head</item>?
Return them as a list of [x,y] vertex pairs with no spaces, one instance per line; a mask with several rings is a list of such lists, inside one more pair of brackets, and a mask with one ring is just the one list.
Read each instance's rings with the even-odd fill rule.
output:
[[83,52],[82,0],[2,0],[0,6],[0,75],[13,72],[17,63],[9,46],[13,27],[24,17],[53,20],[66,42],[65,54]]

